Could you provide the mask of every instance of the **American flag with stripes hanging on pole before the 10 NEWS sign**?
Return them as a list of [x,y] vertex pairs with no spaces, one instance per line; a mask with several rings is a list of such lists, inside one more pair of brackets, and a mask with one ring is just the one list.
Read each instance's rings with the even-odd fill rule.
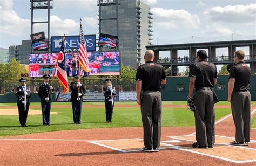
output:
[[89,72],[90,71],[89,60],[88,60],[88,56],[87,56],[86,43],[84,40],[84,32],[83,32],[81,22],[80,22],[80,38],[79,38],[79,40],[80,40],[79,52],[78,52],[79,65],[82,67],[82,69],[84,71]]

